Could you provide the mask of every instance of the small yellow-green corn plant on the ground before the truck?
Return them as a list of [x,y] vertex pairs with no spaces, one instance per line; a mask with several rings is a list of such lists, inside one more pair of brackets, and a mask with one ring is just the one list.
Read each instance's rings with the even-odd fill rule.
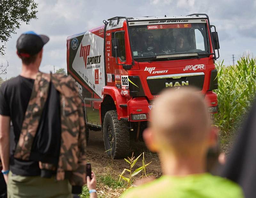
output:
[[[124,169],[123,172],[121,173],[121,175],[119,175],[119,181],[121,179],[123,179],[124,181],[126,181],[128,183],[127,187],[129,188],[130,185],[132,184],[134,177],[136,175],[138,175],[142,170],[142,175],[140,177],[148,177],[151,174],[146,174],[146,167],[151,163],[149,162],[148,164],[145,164],[145,158],[144,158],[144,153],[143,153],[143,159],[142,159],[142,166],[140,166],[139,168],[137,168],[136,170],[133,170],[134,165],[137,163],[137,161],[139,160],[140,156],[142,154],[140,154],[136,159],[135,156],[133,156],[132,153],[132,157],[128,157],[128,160],[124,158],[124,160],[130,165],[129,169]],[[124,177],[124,173],[125,172],[129,172],[129,176],[128,177]]]

